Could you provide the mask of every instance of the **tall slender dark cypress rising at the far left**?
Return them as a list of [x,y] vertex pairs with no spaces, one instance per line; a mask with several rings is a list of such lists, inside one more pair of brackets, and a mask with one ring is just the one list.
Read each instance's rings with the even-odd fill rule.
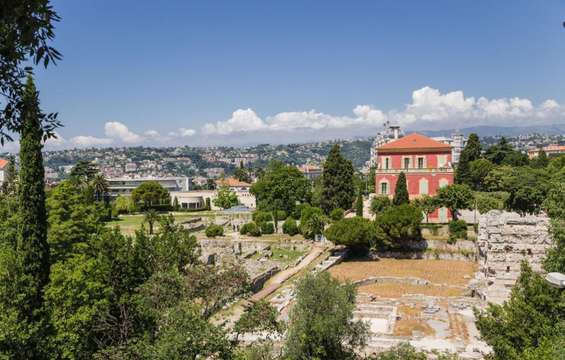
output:
[[45,173],[41,154],[43,129],[39,95],[33,79],[28,78],[23,97],[20,131],[20,172],[18,184],[17,251],[23,272],[33,278],[29,294],[30,311],[41,306],[43,288],[49,280],[49,245],[45,210]]

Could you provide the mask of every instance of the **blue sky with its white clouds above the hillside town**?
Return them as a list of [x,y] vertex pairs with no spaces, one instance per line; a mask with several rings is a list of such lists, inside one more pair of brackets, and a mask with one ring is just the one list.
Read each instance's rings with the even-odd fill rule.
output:
[[564,1],[53,5],[64,59],[38,71],[65,124],[51,146],[565,122]]

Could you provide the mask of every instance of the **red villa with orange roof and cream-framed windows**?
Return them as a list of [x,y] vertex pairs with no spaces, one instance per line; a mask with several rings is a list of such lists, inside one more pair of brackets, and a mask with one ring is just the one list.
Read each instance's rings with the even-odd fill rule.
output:
[[[404,172],[410,199],[434,196],[441,187],[453,184],[451,146],[420,134],[410,134],[381,145],[376,150],[375,191],[394,196],[398,175]],[[451,214],[440,208],[429,216],[432,222],[447,222]]]

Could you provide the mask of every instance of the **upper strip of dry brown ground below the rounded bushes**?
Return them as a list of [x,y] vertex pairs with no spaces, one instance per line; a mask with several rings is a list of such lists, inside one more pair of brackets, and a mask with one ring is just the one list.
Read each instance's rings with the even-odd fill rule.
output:
[[[417,277],[428,280],[434,285],[463,287],[469,282],[476,268],[475,263],[460,260],[381,259],[345,261],[330,268],[329,272],[333,277],[343,281],[357,281],[372,276]],[[399,284],[394,286],[399,287]],[[425,286],[422,288],[422,291],[426,290]]]

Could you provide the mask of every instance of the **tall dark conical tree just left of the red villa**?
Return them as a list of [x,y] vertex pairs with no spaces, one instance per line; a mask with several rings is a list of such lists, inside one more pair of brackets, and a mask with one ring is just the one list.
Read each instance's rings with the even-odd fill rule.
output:
[[333,209],[350,209],[355,198],[353,165],[341,154],[339,145],[334,145],[324,163],[322,173],[322,204],[326,214]]

